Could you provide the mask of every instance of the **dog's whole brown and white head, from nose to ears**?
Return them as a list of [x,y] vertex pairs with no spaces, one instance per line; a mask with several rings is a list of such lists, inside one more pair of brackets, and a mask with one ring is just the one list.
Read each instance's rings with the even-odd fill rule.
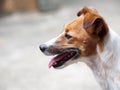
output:
[[101,46],[107,31],[108,27],[97,11],[84,7],[78,12],[78,18],[66,24],[57,38],[40,45],[40,49],[46,55],[56,55],[49,67],[58,68],[68,65],[68,61],[95,55],[96,47]]

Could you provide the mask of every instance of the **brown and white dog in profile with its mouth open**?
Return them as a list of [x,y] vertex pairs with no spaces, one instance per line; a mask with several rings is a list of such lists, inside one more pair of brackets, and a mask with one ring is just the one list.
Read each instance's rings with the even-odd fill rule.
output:
[[54,55],[49,68],[86,63],[103,90],[120,90],[120,37],[98,11],[83,7],[62,33],[39,46],[45,55]]

